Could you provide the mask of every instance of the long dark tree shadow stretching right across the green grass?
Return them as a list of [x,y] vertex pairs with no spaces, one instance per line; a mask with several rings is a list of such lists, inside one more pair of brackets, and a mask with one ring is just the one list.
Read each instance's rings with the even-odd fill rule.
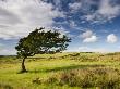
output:
[[49,73],[49,72],[60,72],[60,71],[70,71],[70,69],[81,69],[87,67],[104,67],[105,65],[70,65],[70,66],[60,66],[55,68],[47,68],[47,69],[34,69],[29,71],[28,73]]

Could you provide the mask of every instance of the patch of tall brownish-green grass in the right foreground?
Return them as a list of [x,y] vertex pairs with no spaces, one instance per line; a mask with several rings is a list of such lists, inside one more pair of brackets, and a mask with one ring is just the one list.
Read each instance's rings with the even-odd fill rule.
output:
[[109,67],[72,69],[57,73],[45,80],[37,78],[33,82],[69,85],[81,88],[120,89],[120,71]]

